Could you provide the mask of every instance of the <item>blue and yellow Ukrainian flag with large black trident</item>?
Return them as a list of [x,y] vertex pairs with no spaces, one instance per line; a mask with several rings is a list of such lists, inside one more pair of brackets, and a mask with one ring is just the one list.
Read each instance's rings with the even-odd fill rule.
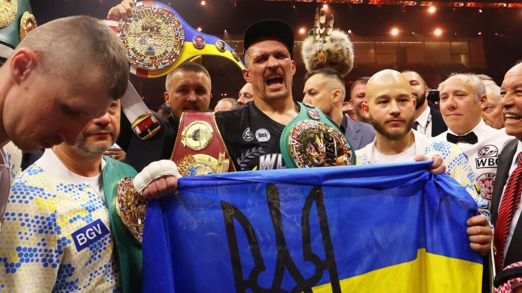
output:
[[145,292],[480,292],[477,204],[429,162],[236,172],[150,201]]

